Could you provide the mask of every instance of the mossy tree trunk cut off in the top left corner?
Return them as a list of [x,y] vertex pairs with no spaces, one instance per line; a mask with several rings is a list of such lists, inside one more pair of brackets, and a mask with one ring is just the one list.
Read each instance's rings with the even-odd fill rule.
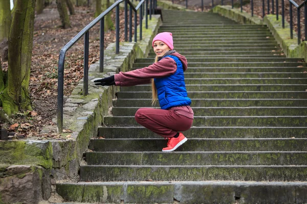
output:
[[11,8],[10,0],[0,1],[0,43],[6,38],[9,39],[11,28]]

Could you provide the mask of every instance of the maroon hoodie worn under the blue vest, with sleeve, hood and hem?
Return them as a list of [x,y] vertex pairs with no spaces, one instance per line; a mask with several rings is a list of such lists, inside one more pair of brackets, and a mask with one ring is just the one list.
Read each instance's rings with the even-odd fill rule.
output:
[[[188,68],[187,59],[179,53],[171,54],[179,58],[182,62],[183,70]],[[151,79],[167,77],[177,70],[177,64],[172,58],[163,58],[160,61],[144,67],[127,72],[119,72],[114,75],[116,86],[135,86],[140,84],[150,84]],[[170,110],[175,110],[177,114],[184,115],[188,118],[193,118],[193,111],[190,106],[172,107]]]

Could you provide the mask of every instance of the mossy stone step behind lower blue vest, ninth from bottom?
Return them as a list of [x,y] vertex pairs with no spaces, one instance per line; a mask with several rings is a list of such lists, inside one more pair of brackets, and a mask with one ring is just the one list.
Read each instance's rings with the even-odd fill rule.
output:
[[[151,91],[120,91],[117,98],[150,99]],[[307,99],[306,91],[190,91],[189,98],[297,98]]]

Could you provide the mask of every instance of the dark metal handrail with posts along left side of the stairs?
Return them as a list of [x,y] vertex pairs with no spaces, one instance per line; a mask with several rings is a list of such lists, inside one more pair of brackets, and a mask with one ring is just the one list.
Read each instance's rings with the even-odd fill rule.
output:
[[[135,42],[137,42],[137,12],[140,9],[140,40],[142,40],[142,19],[146,17],[146,29],[148,28],[148,1],[150,1],[149,18],[151,14],[155,12],[157,8],[157,0],[142,0],[137,7],[129,0],[118,0],[112,6],[102,12],[97,18],[95,18],[90,24],[86,25],[73,39],[71,39],[66,45],[64,45],[59,54],[58,62],[58,98],[57,98],[57,129],[58,133],[62,133],[63,129],[63,95],[64,95],[64,62],[67,50],[70,49],[81,37],[84,36],[84,65],[83,65],[83,95],[88,95],[88,78],[89,78],[89,31],[100,22],[100,59],[99,59],[99,72],[103,72],[103,55],[104,55],[104,17],[116,8],[116,54],[119,54],[119,4],[125,2],[125,41],[127,41],[127,5],[129,4],[129,42],[132,41],[132,11],[135,12]],[[145,5],[144,5],[145,2]],[[153,3],[153,7],[152,7]],[[145,8],[146,7],[146,8]],[[145,12],[143,12],[145,10]]]

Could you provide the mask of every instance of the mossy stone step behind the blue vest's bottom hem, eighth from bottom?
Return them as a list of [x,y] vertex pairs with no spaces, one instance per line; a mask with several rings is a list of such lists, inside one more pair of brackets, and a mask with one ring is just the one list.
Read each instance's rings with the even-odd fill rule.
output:
[[[192,99],[192,107],[306,107],[306,99],[266,99],[266,98],[203,98]],[[113,100],[114,107],[150,107],[151,99],[117,99]],[[155,107],[159,107],[159,103]]]

